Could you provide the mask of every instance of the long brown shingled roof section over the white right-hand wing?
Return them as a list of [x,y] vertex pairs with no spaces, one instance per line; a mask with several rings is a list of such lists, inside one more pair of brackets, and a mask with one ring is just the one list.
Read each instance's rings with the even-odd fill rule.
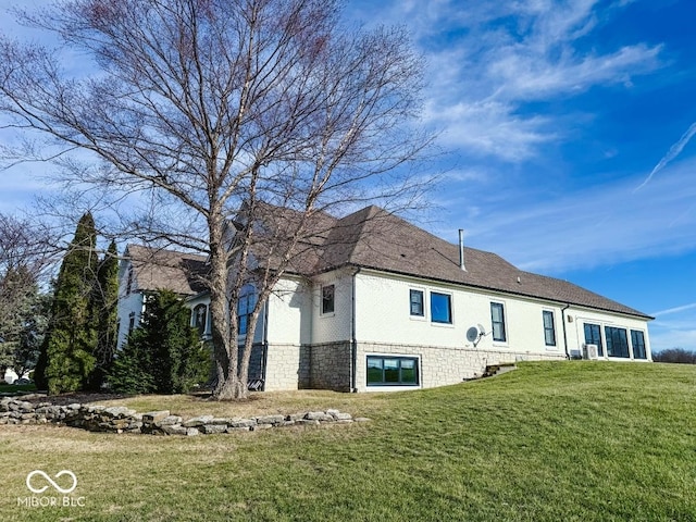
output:
[[464,248],[467,270],[462,271],[458,245],[377,207],[368,207],[337,221],[314,272],[344,265],[652,319],[572,283],[519,270],[492,252]]

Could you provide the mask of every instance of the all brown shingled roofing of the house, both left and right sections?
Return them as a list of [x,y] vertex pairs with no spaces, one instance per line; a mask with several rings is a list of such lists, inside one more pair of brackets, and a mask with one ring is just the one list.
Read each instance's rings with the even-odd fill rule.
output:
[[[266,231],[254,252],[258,260],[278,265],[272,245],[293,236],[293,223],[300,214],[266,206],[261,212]],[[633,308],[586,290],[567,281],[519,270],[492,252],[464,248],[465,271],[459,266],[459,246],[447,243],[378,207],[368,207],[346,217],[316,213],[309,232],[294,248],[288,272],[312,276],[343,266],[373,269],[394,274],[446,282],[464,287],[500,291],[605,310],[642,319],[652,319]],[[170,288],[194,295],[204,290],[201,274],[206,258],[191,253],[128,246],[138,287],[146,290]]]

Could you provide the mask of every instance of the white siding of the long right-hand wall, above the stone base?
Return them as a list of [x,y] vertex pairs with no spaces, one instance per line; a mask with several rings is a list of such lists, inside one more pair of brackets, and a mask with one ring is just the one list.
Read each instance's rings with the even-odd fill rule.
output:
[[[423,294],[423,315],[410,313],[410,290]],[[451,323],[433,322],[431,295],[433,293],[450,296]],[[476,349],[510,353],[510,360],[523,356],[566,357],[568,349],[582,350],[584,322],[599,324],[602,332],[602,345],[606,350],[605,326],[626,330],[631,356],[631,330],[643,332],[648,360],[650,357],[647,321],[639,318],[585,310],[577,307],[544,301],[523,296],[504,295],[453,285],[438,284],[417,278],[361,271],[356,276],[356,338],[359,343],[381,343],[389,345],[438,346],[443,348]],[[493,335],[492,303],[502,306],[505,315],[505,340],[495,340]],[[552,331],[545,336],[544,312],[552,318]],[[566,318],[566,335],[563,334]],[[570,321],[569,321],[570,318]],[[467,340],[467,331],[481,324],[486,335],[476,346]],[[550,324],[547,323],[547,326]],[[550,336],[555,343],[550,343]],[[633,357],[631,357],[632,359]]]

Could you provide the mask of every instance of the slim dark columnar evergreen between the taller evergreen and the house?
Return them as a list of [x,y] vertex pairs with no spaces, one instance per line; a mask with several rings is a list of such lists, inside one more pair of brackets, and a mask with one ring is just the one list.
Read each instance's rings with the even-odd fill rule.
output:
[[99,263],[97,284],[92,295],[92,315],[97,320],[97,345],[95,369],[89,376],[88,387],[99,389],[111,369],[116,351],[117,301],[119,301],[119,249],[111,241],[104,258]]

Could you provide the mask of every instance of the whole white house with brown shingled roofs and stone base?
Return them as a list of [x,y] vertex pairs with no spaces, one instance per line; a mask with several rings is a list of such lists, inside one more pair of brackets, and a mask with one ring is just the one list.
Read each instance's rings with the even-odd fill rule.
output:
[[[266,390],[433,387],[521,360],[651,360],[652,318],[630,307],[450,244],[376,207],[321,221],[257,327],[250,378]],[[167,287],[185,296],[191,324],[209,334],[197,279],[204,268],[202,257],[129,246],[121,324],[138,324],[144,291]],[[248,285],[241,334],[254,299]]]

